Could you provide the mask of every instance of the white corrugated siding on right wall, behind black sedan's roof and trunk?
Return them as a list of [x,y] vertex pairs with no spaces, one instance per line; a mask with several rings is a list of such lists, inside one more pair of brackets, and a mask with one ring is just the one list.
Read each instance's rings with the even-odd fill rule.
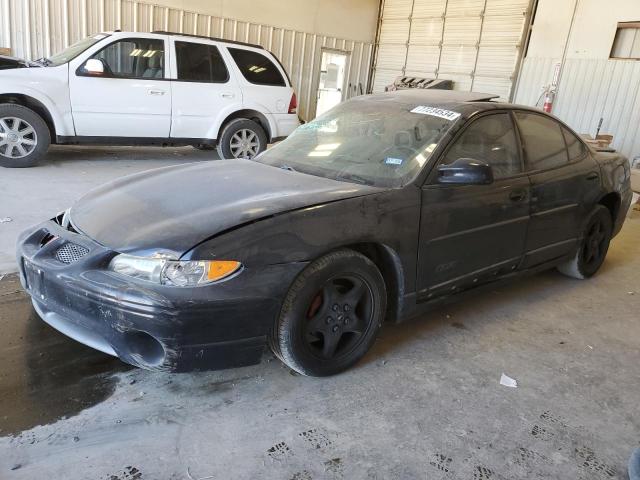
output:
[[[516,102],[536,105],[553,79],[557,60],[526,58]],[[630,159],[640,155],[640,62],[569,59],[558,85],[553,113],[579,133],[613,135],[614,147]]]

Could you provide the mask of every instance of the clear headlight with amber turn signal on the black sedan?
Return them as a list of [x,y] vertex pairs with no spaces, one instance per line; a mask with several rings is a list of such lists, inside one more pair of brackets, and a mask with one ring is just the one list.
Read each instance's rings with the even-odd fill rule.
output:
[[179,261],[120,254],[109,270],[147,282],[175,287],[197,287],[217,282],[236,273],[242,264],[234,260]]

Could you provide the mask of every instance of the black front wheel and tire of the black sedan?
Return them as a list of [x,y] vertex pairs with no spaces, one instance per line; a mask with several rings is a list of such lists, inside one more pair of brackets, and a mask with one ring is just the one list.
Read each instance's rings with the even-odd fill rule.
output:
[[373,345],[386,305],[384,279],[371,260],[353,250],[329,253],[289,288],[269,336],[271,349],[302,375],[343,372]]

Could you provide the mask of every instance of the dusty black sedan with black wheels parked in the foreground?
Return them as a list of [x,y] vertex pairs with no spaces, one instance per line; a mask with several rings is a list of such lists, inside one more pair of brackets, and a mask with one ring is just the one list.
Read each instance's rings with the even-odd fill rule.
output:
[[143,368],[331,375],[398,322],[481,285],[603,263],[626,159],[490,96],[356,98],[254,160],[144,172],[22,234],[44,321]]

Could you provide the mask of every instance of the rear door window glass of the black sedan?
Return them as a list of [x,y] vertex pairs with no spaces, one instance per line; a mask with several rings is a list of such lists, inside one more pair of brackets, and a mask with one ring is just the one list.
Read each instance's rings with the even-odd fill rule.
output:
[[527,170],[546,170],[569,163],[560,124],[537,113],[516,112]]

